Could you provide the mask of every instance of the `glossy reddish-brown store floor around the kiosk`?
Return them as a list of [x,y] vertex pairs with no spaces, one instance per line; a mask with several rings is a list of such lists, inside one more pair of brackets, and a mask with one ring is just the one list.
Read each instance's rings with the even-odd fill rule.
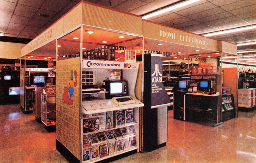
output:
[[[0,122],[0,162],[68,162],[55,149],[55,132],[19,105],[0,105]],[[215,128],[174,120],[169,110],[165,147],[114,162],[256,162],[256,110]]]

